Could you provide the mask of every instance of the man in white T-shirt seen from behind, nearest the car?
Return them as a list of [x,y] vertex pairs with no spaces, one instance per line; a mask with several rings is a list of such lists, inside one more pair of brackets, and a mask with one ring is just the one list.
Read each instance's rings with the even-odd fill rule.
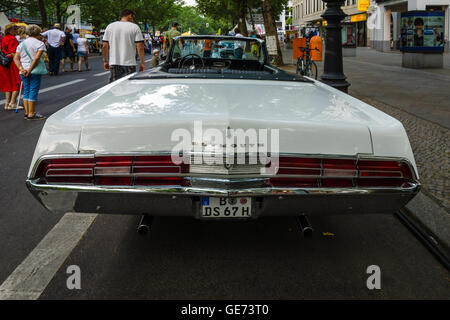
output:
[[135,13],[122,10],[120,21],[106,27],[103,36],[103,64],[111,71],[110,82],[136,72],[136,49],[140,59],[139,71],[144,71],[144,38],[141,29],[134,23]]

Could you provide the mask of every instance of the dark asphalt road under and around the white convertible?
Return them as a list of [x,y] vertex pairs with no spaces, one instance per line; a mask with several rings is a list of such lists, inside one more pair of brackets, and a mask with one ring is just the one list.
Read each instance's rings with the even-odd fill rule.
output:
[[[50,115],[102,87],[92,71],[45,77],[38,111]],[[0,98],[3,99],[3,98]],[[43,122],[0,111],[0,284],[62,218],[46,212],[24,180]],[[450,276],[392,215],[311,217],[305,239],[293,218],[205,222],[156,218],[148,236],[137,216],[99,215],[77,239],[41,299],[388,299],[450,297]],[[44,250],[45,251],[45,250]],[[38,265],[45,264],[41,261]],[[66,286],[67,267],[81,269],[81,289]],[[381,269],[368,290],[366,269]]]

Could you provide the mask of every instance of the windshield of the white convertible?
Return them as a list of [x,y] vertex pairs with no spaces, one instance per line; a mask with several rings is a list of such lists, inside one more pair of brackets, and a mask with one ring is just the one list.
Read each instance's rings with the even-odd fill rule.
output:
[[206,59],[253,60],[264,63],[263,43],[257,40],[179,38],[172,51],[172,61],[187,55],[198,55]]

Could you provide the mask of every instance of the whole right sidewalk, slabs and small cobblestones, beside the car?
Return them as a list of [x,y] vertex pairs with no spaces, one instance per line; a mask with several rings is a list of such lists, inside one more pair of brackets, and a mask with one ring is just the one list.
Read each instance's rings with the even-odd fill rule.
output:
[[[396,66],[399,63],[398,53],[393,53],[390,59],[389,54],[380,55],[371,52],[374,51],[371,49],[365,48],[361,51],[362,53],[358,50],[361,54],[359,54],[359,62],[355,64],[352,63],[352,59],[356,58],[344,58],[344,73],[350,83],[354,81],[349,88],[349,94],[403,123],[413,148],[425,194],[448,211],[450,209],[450,130],[446,124],[450,122],[447,116],[450,110],[450,96],[447,100],[445,97],[450,94],[450,77],[448,77],[450,69],[447,69],[447,67],[450,68],[450,63],[445,65],[444,69],[405,70],[399,75]],[[292,53],[289,50],[284,50],[283,53],[287,64],[282,69],[295,72],[295,66],[292,65],[293,59],[290,58]],[[384,68],[383,73],[387,81],[377,79],[376,72],[379,72],[376,70],[377,57],[379,57],[380,68]],[[370,63],[364,64],[367,60],[370,60]],[[318,63],[318,69],[320,78],[323,72],[322,63]],[[414,75],[423,76],[427,81],[432,81],[427,83],[426,88],[445,86],[447,82],[449,83],[447,90],[442,92],[441,99],[429,97],[431,104],[423,107],[426,110],[419,110],[405,103],[408,99],[414,98],[411,97],[411,92],[418,89],[416,78],[409,82],[404,81],[408,79],[408,76]],[[395,86],[396,82],[393,79],[399,79],[398,87]],[[399,92],[402,94],[398,94]],[[424,91],[424,99],[428,98],[426,94],[427,92]],[[431,91],[428,94],[435,93]]]

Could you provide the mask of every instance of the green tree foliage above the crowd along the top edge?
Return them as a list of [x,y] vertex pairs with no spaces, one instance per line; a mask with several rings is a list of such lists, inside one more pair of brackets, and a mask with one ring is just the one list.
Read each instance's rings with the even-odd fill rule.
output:
[[[287,2],[272,0],[275,16]],[[30,16],[40,16],[39,3],[45,6],[49,23],[64,22],[67,8],[78,4],[82,21],[92,23],[97,31],[119,20],[122,9],[128,8],[136,12],[136,23],[143,30],[146,24],[150,30],[168,30],[173,21],[178,21],[180,31],[186,32],[190,27],[197,34],[217,33],[219,28],[226,33],[237,24],[239,8],[246,8],[246,12],[261,8],[261,0],[197,0],[197,7],[183,6],[182,0],[1,0],[0,11],[23,7]]]

